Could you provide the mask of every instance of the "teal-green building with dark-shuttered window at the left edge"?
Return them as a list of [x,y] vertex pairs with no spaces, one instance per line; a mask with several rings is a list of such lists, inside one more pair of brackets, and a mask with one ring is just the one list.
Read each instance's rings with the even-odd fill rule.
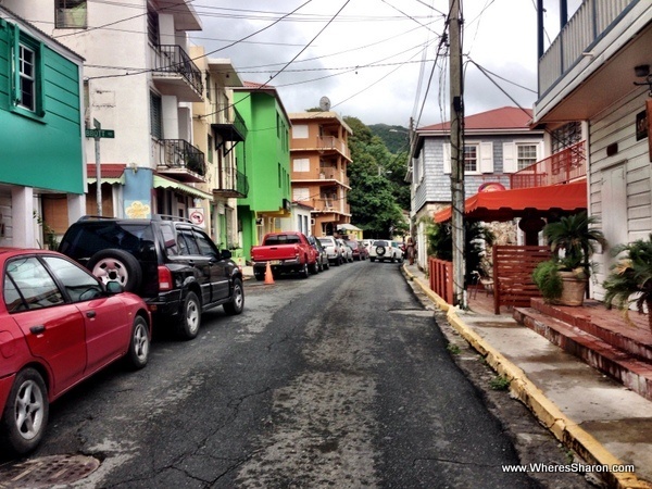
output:
[[54,208],[63,221],[82,215],[82,65],[79,55],[0,7],[0,246],[42,244],[35,218]]

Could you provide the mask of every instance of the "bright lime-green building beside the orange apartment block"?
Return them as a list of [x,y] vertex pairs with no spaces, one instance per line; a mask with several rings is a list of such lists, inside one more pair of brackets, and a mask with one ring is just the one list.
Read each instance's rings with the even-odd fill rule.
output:
[[274,87],[246,83],[234,88],[234,103],[249,129],[244,143],[237,146],[249,180],[247,198],[238,199],[242,249],[249,260],[251,247],[266,233],[280,230],[280,218],[290,216],[290,122]]

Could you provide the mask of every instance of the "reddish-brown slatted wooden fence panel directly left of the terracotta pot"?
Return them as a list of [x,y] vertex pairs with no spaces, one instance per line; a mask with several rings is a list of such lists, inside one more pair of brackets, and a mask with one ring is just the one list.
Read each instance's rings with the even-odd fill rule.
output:
[[529,308],[541,292],[532,280],[540,262],[551,258],[550,247],[493,247],[493,312],[500,306]]

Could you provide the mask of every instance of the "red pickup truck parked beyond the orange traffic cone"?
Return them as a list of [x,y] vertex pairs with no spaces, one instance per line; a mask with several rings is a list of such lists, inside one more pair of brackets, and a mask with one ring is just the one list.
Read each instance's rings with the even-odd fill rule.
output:
[[265,278],[267,263],[274,276],[297,272],[303,278],[318,272],[317,251],[303,233],[268,233],[261,244],[251,247],[251,262],[256,280]]

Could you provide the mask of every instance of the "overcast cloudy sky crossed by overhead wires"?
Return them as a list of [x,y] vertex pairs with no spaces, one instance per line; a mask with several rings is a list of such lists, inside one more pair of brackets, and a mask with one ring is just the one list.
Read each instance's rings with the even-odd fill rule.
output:
[[[536,0],[461,0],[465,113],[531,108],[537,89]],[[581,0],[569,0],[569,15]],[[195,0],[191,39],[228,58],[247,82],[276,87],[288,112],[319,105],[364,124],[418,127],[449,120],[441,55],[449,0]],[[557,0],[546,27],[559,33]],[[548,46],[548,41],[547,41]],[[491,75],[486,76],[476,66]],[[493,82],[491,79],[493,79]],[[507,95],[503,93],[506,91]]]

